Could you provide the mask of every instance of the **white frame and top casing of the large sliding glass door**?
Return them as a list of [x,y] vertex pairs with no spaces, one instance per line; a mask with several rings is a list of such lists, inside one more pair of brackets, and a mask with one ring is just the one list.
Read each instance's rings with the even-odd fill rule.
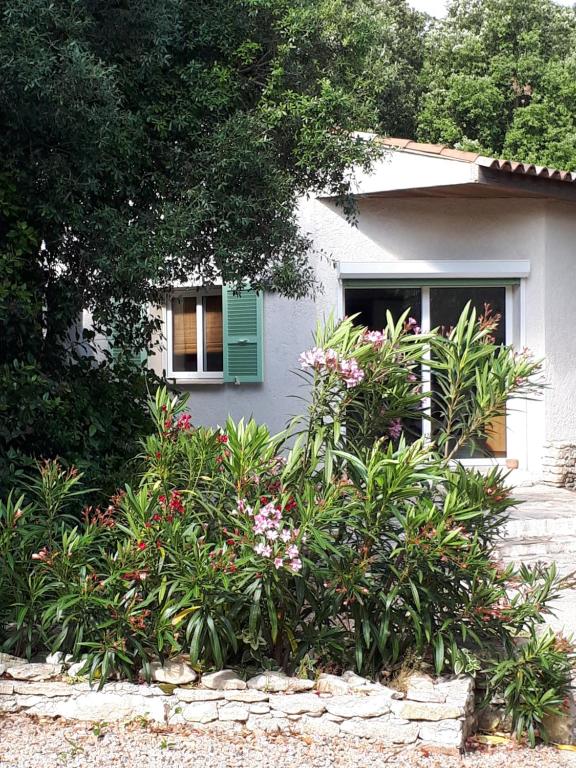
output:
[[[396,262],[340,262],[338,274],[340,290],[338,291],[337,310],[340,318],[345,314],[345,291],[355,279],[405,279],[430,280],[438,278],[446,279],[487,279],[498,280],[506,278],[518,278],[519,286],[503,286],[506,288],[506,344],[512,344],[518,348],[525,346],[525,304],[526,304],[526,278],[531,271],[530,261],[526,260],[436,260],[436,261],[396,261]],[[348,285],[344,286],[344,281]],[[415,285],[415,287],[418,287]],[[430,287],[420,286],[422,300],[422,317],[420,326],[423,332],[430,330]],[[423,366],[423,384],[430,383],[430,369]],[[425,408],[430,408],[430,403],[424,403]],[[459,459],[459,463],[467,466],[492,467],[495,465],[506,466],[509,458],[517,459],[520,468],[527,467],[527,415],[524,401],[509,402],[506,418],[506,457],[498,458],[472,458]],[[432,425],[430,421],[423,421],[423,434],[429,436]]]

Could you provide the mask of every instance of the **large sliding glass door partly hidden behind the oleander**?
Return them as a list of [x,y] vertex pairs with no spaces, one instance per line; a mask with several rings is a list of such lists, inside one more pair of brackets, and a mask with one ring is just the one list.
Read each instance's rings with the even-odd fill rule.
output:
[[[371,330],[382,329],[386,325],[386,312],[398,318],[406,311],[415,318],[423,331],[440,328],[445,332],[457,323],[458,318],[470,301],[478,314],[484,312],[489,304],[493,312],[501,316],[496,336],[497,344],[512,343],[513,290],[518,280],[427,280],[427,281],[346,281],[344,283],[345,312],[358,315],[357,322]],[[423,370],[425,387],[434,391],[434,380],[430,370]],[[425,403],[430,415],[432,406]],[[422,420],[421,430],[429,432],[431,422]],[[506,418],[498,419],[481,447],[481,456],[505,457]],[[461,458],[477,458],[470,452]]]

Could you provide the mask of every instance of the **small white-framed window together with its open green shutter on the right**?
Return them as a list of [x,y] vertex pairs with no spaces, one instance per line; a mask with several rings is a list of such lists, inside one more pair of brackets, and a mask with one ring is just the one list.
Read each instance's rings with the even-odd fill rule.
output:
[[186,289],[166,307],[168,377],[182,381],[260,383],[263,379],[263,297]]

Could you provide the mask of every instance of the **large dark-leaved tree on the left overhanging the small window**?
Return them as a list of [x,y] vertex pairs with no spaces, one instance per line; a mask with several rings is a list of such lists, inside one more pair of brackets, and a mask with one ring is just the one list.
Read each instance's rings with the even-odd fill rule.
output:
[[118,362],[75,355],[82,309],[132,348],[144,303],[174,281],[310,289],[296,201],[345,200],[370,160],[353,131],[376,124],[381,14],[377,0],[0,0],[0,464],[89,465],[137,433],[142,390]]

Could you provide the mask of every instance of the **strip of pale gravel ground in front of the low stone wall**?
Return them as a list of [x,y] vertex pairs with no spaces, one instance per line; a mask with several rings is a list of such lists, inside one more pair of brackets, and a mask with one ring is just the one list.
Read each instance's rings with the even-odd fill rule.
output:
[[353,739],[245,736],[0,716],[2,768],[560,768],[576,753],[518,747],[473,748],[464,757]]

